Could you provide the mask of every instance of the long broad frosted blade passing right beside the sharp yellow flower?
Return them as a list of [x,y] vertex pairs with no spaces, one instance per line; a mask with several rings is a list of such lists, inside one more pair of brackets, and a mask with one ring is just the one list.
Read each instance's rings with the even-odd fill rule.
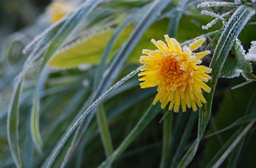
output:
[[197,139],[188,149],[187,153],[183,156],[179,167],[186,167],[195,156],[199,142],[203,137],[203,133],[210,119],[213,94],[218,81],[218,77],[220,75],[221,68],[225,63],[228,52],[233,46],[235,39],[244,28],[247,21],[254,14],[255,11],[252,10],[250,7],[246,7],[245,5],[239,6],[229,19],[227,26],[225,27],[221,34],[221,37],[219,38],[210,65],[210,68],[212,69],[212,79],[208,82],[208,84],[210,88],[212,88],[212,91],[209,94],[204,93],[207,103],[200,108]]

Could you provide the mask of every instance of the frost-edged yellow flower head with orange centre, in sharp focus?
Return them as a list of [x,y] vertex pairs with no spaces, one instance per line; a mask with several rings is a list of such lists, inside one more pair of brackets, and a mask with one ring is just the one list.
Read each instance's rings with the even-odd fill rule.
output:
[[159,40],[154,39],[151,42],[158,48],[156,50],[143,49],[142,53],[146,54],[140,57],[140,63],[145,64],[141,68],[139,76],[141,88],[155,87],[157,95],[153,104],[158,100],[162,103],[161,107],[170,103],[169,110],[174,107],[174,112],[179,112],[181,104],[182,111],[186,112],[186,107],[192,107],[197,110],[196,104],[202,107],[206,100],[202,94],[202,89],[210,92],[211,88],[205,84],[211,77],[206,74],[212,69],[203,65],[198,65],[200,60],[210,51],[192,53],[201,46],[205,39],[199,39],[193,44],[183,46],[174,38],[165,35],[167,45]]

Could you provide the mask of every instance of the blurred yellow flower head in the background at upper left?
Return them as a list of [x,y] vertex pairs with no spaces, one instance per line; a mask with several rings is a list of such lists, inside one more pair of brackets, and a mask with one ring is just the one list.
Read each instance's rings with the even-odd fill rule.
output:
[[62,18],[62,16],[72,12],[75,9],[75,6],[63,2],[63,1],[54,1],[49,6],[47,6],[46,11],[50,14],[52,23],[57,22]]

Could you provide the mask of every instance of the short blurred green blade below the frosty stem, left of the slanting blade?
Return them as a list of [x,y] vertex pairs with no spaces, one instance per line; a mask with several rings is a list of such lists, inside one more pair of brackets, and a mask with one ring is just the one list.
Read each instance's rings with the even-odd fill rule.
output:
[[113,145],[112,140],[108,128],[108,120],[106,117],[106,112],[103,107],[103,105],[99,105],[98,110],[96,112],[96,119],[98,123],[98,127],[100,130],[100,137],[103,144],[103,147],[105,149],[106,157],[112,154],[113,152]]

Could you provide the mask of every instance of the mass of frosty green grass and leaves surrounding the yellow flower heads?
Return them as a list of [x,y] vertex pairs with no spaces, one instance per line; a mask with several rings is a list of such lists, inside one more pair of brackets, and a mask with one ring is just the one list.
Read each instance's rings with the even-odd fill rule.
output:
[[[13,32],[15,4],[0,2],[0,167],[253,167],[256,7],[235,2],[81,1]],[[165,34],[207,39],[195,52],[211,51],[212,91],[199,111],[152,105],[156,88],[134,77]]]

